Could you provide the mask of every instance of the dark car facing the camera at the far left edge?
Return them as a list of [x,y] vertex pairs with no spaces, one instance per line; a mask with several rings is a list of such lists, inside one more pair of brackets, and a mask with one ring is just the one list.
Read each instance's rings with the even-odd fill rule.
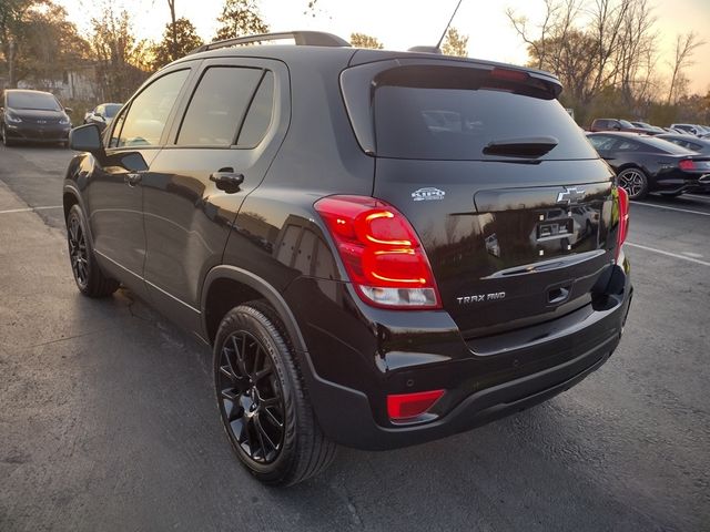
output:
[[68,145],[71,109],[63,108],[49,92],[8,89],[0,104],[0,135],[10,146],[16,142]]

